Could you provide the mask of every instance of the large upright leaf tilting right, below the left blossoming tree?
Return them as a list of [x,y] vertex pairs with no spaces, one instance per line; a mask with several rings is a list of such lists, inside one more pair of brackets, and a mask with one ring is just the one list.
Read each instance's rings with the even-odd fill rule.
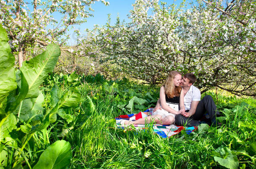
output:
[[43,53],[23,64],[20,70],[29,84],[26,98],[35,98],[39,95],[39,85],[53,71],[59,56],[60,47],[57,44],[50,44]]

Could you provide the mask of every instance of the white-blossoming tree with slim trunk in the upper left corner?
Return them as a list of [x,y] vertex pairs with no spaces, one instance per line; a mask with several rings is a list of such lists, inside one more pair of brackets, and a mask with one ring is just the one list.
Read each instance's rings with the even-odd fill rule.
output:
[[[1,0],[0,24],[8,32],[19,67],[29,48],[52,42],[65,44],[70,38],[67,30],[92,16],[91,4],[95,1],[99,0]],[[108,5],[104,0],[101,2]]]

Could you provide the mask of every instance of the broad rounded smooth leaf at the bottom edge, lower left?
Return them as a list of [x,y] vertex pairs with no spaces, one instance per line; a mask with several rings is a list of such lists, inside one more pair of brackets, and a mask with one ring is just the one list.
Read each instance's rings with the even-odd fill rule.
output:
[[70,164],[71,158],[70,143],[59,140],[44,150],[33,169],[63,169]]

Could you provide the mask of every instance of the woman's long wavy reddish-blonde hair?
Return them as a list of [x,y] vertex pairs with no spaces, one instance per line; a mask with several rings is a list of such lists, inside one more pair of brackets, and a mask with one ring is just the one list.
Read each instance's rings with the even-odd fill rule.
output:
[[180,96],[181,87],[175,86],[173,83],[173,79],[177,74],[181,75],[181,73],[178,71],[171,71],[167,79],[162,85],[165,87],[165,94],[167,95],[168,98],[173,98],[174,96]]

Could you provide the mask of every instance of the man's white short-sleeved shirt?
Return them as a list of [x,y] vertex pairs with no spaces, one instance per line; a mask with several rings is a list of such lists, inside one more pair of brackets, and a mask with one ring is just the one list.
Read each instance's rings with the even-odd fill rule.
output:
[[200,90],[197,87],[191,85],[188,92],[184,96],[185,110],[190,110],[192,101],[200,101],[200,100],[201,100]]

